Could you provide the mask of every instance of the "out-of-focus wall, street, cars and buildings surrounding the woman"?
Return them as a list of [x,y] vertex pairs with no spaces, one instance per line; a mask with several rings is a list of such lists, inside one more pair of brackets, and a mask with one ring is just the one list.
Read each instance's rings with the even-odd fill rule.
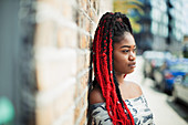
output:
[[[0,0],[0,125],[85,125],[90,46],[106,11],[130,19],[157,125],[188,124],[187,0]],[[133,79],[134,77],[134,79]]]

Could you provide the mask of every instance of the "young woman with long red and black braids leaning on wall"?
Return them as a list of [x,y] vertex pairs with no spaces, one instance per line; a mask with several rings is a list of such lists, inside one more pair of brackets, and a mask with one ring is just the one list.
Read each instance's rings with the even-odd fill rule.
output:
[[142,88],[124,81],[136,66],[136,44],[125,14],[101,18],[91,58],[95,77],[88,91],[88,125],[153,125]]

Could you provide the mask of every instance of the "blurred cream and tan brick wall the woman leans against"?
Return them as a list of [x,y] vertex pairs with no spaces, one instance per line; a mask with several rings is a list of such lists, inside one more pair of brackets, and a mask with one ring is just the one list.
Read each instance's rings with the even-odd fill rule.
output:
[[36,0],[36,125],[84,125],[90,42],[112,0]]

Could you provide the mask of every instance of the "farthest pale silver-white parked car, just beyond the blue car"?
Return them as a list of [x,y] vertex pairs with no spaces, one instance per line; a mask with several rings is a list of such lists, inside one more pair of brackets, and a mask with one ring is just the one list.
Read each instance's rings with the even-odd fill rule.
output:
[[150,77],[154,80],[154,71],[160,67],[164,62],[168,59],[171,59],[169,52],[163,51],[145,51],[143,58],[145,59],[144,63],[144,75],[145,77]]

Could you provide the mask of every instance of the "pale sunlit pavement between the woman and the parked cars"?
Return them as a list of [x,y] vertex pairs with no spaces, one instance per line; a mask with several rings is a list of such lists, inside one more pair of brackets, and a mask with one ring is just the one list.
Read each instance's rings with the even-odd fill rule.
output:
[[[144,60],[137,56],[135,72],[125,80],[139,84],[154,113],[156,125],[188,125],[188,106],[173,102],[173,97],[154,87],[153,80],[143,75]],[[187,122],[186,122],[187,121]]]

